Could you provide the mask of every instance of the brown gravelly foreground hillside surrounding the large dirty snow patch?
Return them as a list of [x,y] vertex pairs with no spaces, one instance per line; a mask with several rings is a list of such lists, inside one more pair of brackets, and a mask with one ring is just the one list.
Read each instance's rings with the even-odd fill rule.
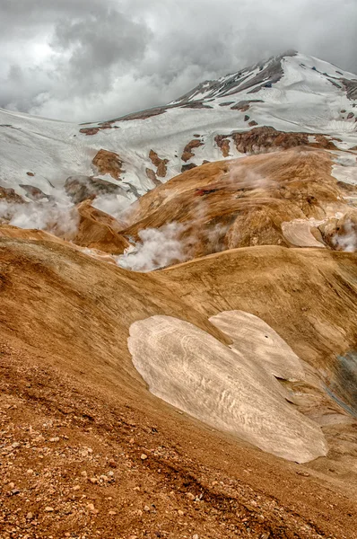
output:
[[[316,372],[356,341],[353,253],[257,247],[143,275],[19,231],[0,261],[4,537],[356,537],[355,423]],[[288,463],[213,431],[135,372],[131,323],[168,314],[229,343],[208,316],[234,308],[314,367],[300,408],[335,417],[326,459]]]

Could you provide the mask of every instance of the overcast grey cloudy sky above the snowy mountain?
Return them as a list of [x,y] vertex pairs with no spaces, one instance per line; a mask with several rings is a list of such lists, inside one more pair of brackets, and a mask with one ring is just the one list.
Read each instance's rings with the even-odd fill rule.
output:
[[357,0],[0,0],[0,107],[109,119],[286,49],[357,73],[356,29]]

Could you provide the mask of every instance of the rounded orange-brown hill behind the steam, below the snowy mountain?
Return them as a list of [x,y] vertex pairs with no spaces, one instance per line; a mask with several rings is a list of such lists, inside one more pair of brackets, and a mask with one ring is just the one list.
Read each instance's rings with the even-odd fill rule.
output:
[[[138,239],[145,228],[183,224],[179,237],[187,259],[257,244],[304,247],[318,241],[324,246],[318,225],[337,211],[355,212],[331,168],[329,152],[307,146],[207,163],[135,202],[121,234]],[[306,230],[301,220],[310,223]],[[284,234],[284,223],[292,223],[293,232]],[[335,227],[334,222],[329,234]],[[328,238],[326,244],[332,245]]]

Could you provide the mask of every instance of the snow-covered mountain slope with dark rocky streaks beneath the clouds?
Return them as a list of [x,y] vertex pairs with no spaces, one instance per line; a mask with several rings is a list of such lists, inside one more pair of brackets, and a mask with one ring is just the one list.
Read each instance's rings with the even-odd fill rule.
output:
[[[357,146],[357,75],[294,51],[200,84],[177,102],[86,125],[0,110],[0,185],[22,197],[30,185],[58,196],[68,177],[100,178],[120,187],[126,206],[155,185],[205,161],[241,156],[220,137],[271,126]],[[337,139],[337,140],[336,140]],[[120,174],[93,163],[113,153]]]

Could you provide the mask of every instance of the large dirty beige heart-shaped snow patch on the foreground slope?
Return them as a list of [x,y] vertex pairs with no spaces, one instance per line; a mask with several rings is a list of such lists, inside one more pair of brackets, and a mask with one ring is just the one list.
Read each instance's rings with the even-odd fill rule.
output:
[[[288,460],[304,463],[326,455],[318,425],[293,409],[273,376],[301,375],[292,349],[256,316],[235,311],[212,322],[231,334],[232,349],[170,316],[151,316],[131,325],[128,347],[151,393],[215,429]],[[234,329],[237,322],[241,335]],[[241,351],[236,341],[240,337]]]

